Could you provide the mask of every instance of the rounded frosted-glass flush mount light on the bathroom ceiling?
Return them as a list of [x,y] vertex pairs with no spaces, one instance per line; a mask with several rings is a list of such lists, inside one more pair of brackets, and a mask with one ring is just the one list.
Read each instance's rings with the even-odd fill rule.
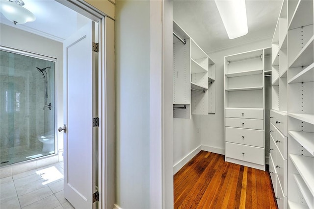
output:
[[33,13],[23,7],[23,0],[0,0],[0,11],[14,24],[24,24],[36,20]]

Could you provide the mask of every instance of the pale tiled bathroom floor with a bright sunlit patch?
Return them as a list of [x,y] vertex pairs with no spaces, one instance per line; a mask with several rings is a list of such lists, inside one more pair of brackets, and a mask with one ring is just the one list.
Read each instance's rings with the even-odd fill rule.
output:
[[63,162],[0,179],[0,209],[74,209],[63,196]]

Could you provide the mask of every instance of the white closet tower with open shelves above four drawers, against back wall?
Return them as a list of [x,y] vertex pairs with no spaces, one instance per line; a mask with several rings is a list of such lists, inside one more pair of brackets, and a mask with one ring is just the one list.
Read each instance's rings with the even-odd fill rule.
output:
[[264,49],[225,57],[225,161],[265,170]]

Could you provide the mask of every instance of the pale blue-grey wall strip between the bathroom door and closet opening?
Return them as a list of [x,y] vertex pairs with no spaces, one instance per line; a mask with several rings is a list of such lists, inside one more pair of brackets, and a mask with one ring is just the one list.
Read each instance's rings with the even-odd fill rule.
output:
[[150,208],[150,1],[116,1],[116,204]]

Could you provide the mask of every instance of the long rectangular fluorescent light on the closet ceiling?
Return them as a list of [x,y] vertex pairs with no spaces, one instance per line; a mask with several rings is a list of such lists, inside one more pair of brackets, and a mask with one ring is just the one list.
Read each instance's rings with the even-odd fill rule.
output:
[[229,39],[248,33],[245,0],[215,0]]

